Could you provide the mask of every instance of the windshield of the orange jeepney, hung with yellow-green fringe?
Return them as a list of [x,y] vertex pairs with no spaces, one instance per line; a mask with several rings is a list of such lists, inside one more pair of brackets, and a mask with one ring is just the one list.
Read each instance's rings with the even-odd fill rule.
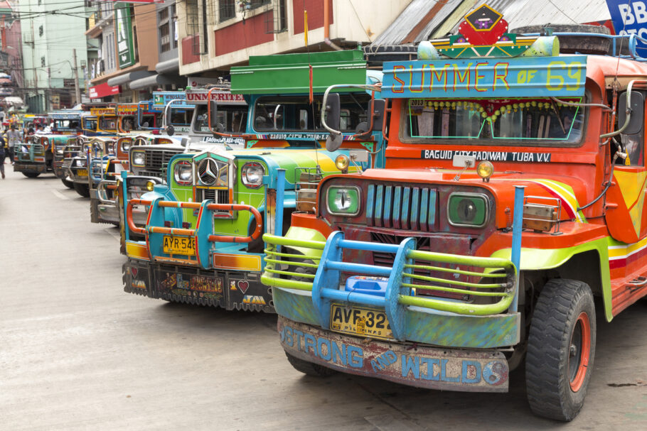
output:
[[411,138],[577,143],[584,127],[584,109],[552,99],[410,99],[406,109]]

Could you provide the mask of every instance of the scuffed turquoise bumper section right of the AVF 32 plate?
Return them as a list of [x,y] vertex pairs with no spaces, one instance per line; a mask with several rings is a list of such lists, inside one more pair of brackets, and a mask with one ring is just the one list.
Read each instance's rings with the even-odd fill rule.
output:
[[444,347],[488,349],[518,343],[519,313],[461,316],[409,307],[405,338]]

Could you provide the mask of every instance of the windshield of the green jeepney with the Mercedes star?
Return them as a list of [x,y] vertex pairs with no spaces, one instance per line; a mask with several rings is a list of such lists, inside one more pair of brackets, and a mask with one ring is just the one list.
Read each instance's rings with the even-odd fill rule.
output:
[[[341,131],[355,131],[358,124],[368,121],[366,93],[340,94]],[[260,97],[254,109],[254,129],[259,131],[321,131],[321,104],[323,97],[309,103],[307,96]]]

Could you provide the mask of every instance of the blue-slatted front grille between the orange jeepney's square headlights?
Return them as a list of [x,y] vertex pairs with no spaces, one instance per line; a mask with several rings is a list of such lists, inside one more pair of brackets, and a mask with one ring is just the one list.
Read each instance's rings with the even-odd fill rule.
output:
[[368,226],[431,231],[436,227],[437,193],[432,187],[371,184],[366,194]]

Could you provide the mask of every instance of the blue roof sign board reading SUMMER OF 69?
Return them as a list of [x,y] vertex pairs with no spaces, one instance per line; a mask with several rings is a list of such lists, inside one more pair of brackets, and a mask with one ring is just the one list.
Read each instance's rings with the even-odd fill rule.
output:
[[384,63],[382,97],[579,97],[587,58],[478,58]]

